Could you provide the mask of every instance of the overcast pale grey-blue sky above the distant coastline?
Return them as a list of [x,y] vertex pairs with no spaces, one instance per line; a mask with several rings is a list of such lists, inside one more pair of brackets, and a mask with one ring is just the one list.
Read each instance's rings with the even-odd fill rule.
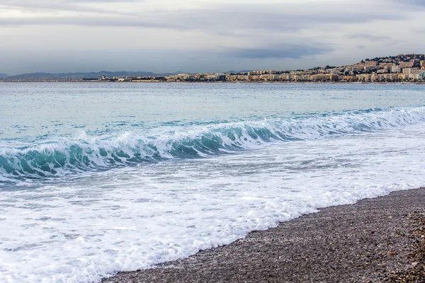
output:
[[304,69],[425,53],[424,0],[0,0],[0,73]]

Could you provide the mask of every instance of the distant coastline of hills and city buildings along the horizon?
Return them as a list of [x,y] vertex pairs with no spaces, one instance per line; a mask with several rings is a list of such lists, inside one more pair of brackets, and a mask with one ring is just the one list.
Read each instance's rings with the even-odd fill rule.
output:
[[[1,78],[0,74],[0,79]],[[346,66],[329,65],[305,70],[227,71],[225,74],[154,74],[150,72],[91,72],[91,73],[32,73],[10,76],[4,81],[39,82],[372,82],[424,83],[425,54],[398,54],[395,56],[365,58]]]

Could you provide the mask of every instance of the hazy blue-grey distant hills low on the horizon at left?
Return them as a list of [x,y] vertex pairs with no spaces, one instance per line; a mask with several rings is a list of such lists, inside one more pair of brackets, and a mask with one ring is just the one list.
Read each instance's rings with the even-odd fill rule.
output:
[[[166,74],[155,74],[151,71],[97,71],[89,73],[63,73],[63,74],[52,74],[52,73],[30,73],[21,74],[16,76],[7,76],[6,81],[75,81],[85,78],[101,79],[103,75],[108,78],[113,76],[169,76],[175,73]],[[1,74],[0,74],[1,78]]]

